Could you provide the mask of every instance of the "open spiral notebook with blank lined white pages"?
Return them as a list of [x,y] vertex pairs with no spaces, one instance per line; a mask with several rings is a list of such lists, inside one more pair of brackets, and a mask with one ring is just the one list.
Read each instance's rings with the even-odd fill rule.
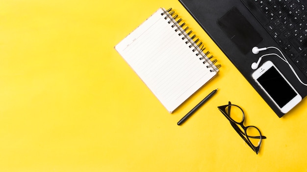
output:
[[115,46],[170,113],[221,67],[188,30],[171,8],[160,8]]

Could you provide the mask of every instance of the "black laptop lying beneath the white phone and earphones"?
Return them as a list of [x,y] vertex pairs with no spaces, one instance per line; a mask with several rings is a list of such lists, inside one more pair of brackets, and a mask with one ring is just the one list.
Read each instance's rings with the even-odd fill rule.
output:
[[[307,83],[307,0],[179,1],[266,103],[282,117],[284,113],[252,78],[255,70],[251,68],[261,55],[279,52],[268,49],[254,54],[252,48],[279,48],[301,81]],[[266,61],[272,61],[301,97],[306,97],[307,86],[299,82],[288,64],[277,56],[267,56],[259,66]],[[233,83],[235,86],[235,81]]]

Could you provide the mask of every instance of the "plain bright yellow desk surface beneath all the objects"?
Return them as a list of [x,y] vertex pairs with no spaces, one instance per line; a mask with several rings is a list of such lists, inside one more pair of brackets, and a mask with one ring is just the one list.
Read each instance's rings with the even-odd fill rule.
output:
[[[159,7],[223,65],[172,114],[114,50]],[[258,155],[228,101],[267,137]],[[306,172],[306,107],[278,118],[177,0],[0,0],[0,172]]]

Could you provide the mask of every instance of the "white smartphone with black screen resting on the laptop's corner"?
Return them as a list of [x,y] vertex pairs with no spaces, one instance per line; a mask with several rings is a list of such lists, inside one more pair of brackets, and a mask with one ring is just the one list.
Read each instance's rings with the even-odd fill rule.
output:
[[302,101],[301,95],[271,61],[262,64],[252,77],[282,113],[287,113]]

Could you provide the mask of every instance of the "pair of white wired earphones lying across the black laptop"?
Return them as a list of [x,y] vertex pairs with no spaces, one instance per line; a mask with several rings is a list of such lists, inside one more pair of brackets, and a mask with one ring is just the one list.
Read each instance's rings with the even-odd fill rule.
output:
[[281,56],[279,56],[278,54],[275,54],[275,53],[264,54],[264,55],[262,55],[261,57],[259,57],[259,59],[258,59],[257,62],[254,62],[254,63],[251,65],[252,69],[255,70],[255,69],[258,68],[258,66],[259,66],[259,64],[260,64],[260,61],[261,61],[261,59],[262,59],[263,57],[275,55],[275,56],[279,57],[283,62],[285,62],[286,64],[289,65],[290,69],[292,70],[292,72],[294,73],[294,75],[296,76],[296,78],[300,81],[300,83],[302,83],[304,86],[307,86],[307,84],[305,84],[305,83],[302,82],[302,80],[299,78],[299,76],[298,76],[297,73],[295,72],[294,68],[292,67],[292,65],[289,64],[289,62],[287,61],[287,59],[286,59],[286,58],[284,57],[284,55],[282,54],[281,50],[278,49],[277,47],[275,47],[275,46],[269,46],[269,47],[258,48],[258,47],[255,46],[255,47],[252,49],[252,52],[253,52],[254,54],[258,54],[259,51],[267,50],[267,49],[269,49],[269,48],[277,49],[277,50],[281,53],[281,55],[282,55],[283,58],[281,58]]

